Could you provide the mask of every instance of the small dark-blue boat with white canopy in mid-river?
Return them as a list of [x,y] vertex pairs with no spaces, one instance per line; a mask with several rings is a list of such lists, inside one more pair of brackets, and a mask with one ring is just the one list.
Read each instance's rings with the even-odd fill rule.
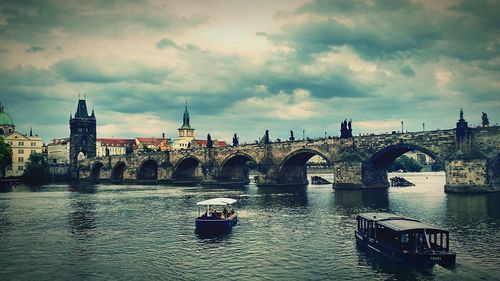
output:
[[217,234],[230,231],[238,222],[238,214],[232,208],[231,210],[228,208],[236,201],[232,198],[213,198],[196,203],[198,205],[198,217],[195,219],[196,232]]

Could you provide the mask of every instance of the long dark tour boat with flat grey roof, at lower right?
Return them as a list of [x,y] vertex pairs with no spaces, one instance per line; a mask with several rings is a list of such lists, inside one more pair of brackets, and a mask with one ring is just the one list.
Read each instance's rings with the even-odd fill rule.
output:
[[356,217],[358,245],[383,257],[412,266],[452,267],[449,232],[437,226],[389,213],[362,213]]

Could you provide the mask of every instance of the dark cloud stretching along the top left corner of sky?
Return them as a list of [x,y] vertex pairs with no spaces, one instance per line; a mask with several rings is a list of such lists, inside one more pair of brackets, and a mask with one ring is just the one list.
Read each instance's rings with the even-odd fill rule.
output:
[[56,30],[72,37],[123,36],[134,30],[174,31],[209,22],[203,14],[180,16],[148,1],[2,1],[0,35],[20,42],[45,42]]

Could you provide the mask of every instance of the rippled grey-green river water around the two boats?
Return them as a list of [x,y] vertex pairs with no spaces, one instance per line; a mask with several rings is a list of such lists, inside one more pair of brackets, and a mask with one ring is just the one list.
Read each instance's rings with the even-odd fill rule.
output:
[[[500,193],[445,194],[443,173],[387,190],[20,186],[0,193],[1,280],[500,280]],[[194,233],[197,201],[238,200],[228,235]],[[453,269],[356,247],[355,216],[388,211],[446,228]]]

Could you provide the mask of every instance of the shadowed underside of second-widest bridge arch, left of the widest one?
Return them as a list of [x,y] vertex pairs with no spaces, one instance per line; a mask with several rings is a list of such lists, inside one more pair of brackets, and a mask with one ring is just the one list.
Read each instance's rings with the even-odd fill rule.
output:
[[307,185],[306,163],[315,155],[319,155],[329,165],[332,165],[331,160],[317,150],[308,148],[295,150],[278,165],[277,183],[279,185]]

